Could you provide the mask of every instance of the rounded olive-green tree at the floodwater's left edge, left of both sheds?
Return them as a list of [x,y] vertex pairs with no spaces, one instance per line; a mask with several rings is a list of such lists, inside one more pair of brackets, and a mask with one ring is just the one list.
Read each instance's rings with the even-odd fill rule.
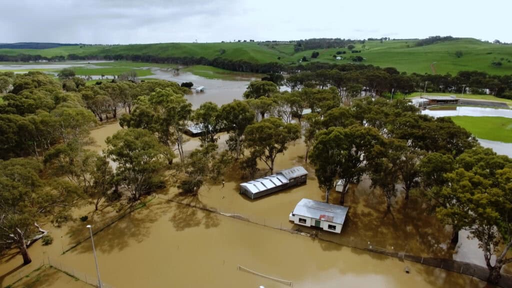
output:
[[120,130],[105,142],[105,155],[118,164],[116,176],[132,200],[163,186],[161,172],[173,155],[150,131]]

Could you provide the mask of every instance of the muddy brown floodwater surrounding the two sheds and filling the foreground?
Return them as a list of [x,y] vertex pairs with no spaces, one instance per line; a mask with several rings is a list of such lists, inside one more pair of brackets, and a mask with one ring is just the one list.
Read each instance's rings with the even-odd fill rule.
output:
[[[104,139],[120,127],[105,125],[93,130],[96,149],[104,148]],[[190,142],[197,141],[191,140]],[[191,145],[191,144],[190,144]],[[191,148],[195,145],[191,145]],[[298,142],[279,155],[276,170],[304,164],[304,145]],[[260,166],[262,171],[264,166]],[[309,171],[312,171],[307,165]],[[261,172],[263,174],[263,172]],[[114,287],[287,287],[287,285],[239,270],[239,265],[271,277],[292,281],[294,287],[484,287],[471,277],[431,268],[418,263],[348,248],[299,234],[280,231],[217,213],[191,208],[173,199],[236,213],[251,221],[273,227],[295,229],[288,214],[303,197],[323,200],[324,194],[310,174],[308,183],[295,189],[249,200],[238,193],[240,174],[230,171],[226,186],[206,183],[199,197],[180,197],[176,188],[161,191],[144,208],[129,214],[102,230],[95,237],[102,280]],[[376,196],[377,195],[377,196]],[[339,201],[334,194],[333,202]],[[338,237],[370,241],[397,251],[418,255],[444,255],[440,245],[449,239],[434,218],[424,213],[421,205],[397,199],[394,215],[385,216],[385,202],[363,181],[349,193],[346,205],[349,217],[341,235],[322,235],[330,240]],[[103,206],[104,207],[104,206]],[[84,223],[72,221],[51,230],[54,243],[35,243],[29,252],[33,263],[19,266],[22,259],[11,252],[0,265],[0,286],[33,270],[47,257],[67,270],[94,276],[92,246],[84,227],[95,229],[108,223],[115,212],[109,207],[91,217],[92,207],[81,207],[75,217],[90,215]],[[301,228],[308,231],[306,228]],[[72,244],[80,245],[61,255]],[[442,246],[442,245],[441,245]],[[409,268],[410,274],[404,272]],[[89,278],[90,279],[90,278]],[[57,285],[55,287],[66,287]]]

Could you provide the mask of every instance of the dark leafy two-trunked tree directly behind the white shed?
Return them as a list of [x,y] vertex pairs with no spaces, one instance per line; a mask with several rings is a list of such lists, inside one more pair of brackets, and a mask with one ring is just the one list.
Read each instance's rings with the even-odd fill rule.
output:
[[326,201],[339,179],[343,182],[340,203],[344,204],[349,184],[359,183],[367,172],[367,158],[375,145],[382,141],[375,128],[358,125],[346,129],[331,127],[317,133],[311,163],[315,166],[319,186],[326,190]]

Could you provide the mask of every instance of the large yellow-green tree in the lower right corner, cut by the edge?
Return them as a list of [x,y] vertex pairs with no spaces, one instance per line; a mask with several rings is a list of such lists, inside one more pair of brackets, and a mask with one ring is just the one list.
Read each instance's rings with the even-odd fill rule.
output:
[[506,257],[512,248],[512,169],[498,170],[490,178],[476,174],[462,168],[447,174],[450,186],[443,188],[443,194],[451,205],[436,213],[444,223],[457,223],[479,240],[489,270],[487,281],[497,284],[502,266],[512,263]]

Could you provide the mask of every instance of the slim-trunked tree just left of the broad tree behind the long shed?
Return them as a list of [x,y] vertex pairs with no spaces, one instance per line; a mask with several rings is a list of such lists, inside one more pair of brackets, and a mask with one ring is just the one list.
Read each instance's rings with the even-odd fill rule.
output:
[[254,123],[255,113],[245,101],[234,100],[219,110],[221,127],[229,133],[227,146],[238,159],[243,154],[243,136],[247,126]]

